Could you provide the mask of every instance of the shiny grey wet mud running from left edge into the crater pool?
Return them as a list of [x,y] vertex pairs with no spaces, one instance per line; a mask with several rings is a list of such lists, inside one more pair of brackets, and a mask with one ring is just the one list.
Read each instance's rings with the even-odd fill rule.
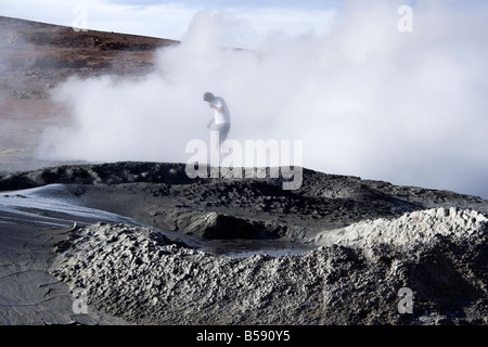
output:
[[[39,227],[84,227],[95,222],[125,223],[150,227],[138,220],[82,206],[64,184],[48,184],[40,188],[0,193],[0,224],[17,223]],[[313,247],[282,240],[203,240],[174,231],[153,228],[174,241],[210,253],[233,258],[268,255],[271,257],[300,255]]]

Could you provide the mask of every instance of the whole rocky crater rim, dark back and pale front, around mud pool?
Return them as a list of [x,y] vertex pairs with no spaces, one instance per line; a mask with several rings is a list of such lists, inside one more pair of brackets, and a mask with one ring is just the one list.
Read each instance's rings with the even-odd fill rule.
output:
[[[488,205],[478,197],[311,170],[297,191],[277,179],[194,181],[184,165],[160,163],[52,167],[3,176],[0,188],[54,182],[77,204],[203,242],[314,246],[235,258],[152,228],[78,228],[56,244],[49,272],[127,322],[487,323]],[[412,313],[399,312],[403,287],[413,293]]]

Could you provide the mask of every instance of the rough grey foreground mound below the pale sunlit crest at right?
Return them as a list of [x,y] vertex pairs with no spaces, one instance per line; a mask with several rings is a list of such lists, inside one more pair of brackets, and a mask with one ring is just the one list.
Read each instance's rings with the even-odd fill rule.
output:
[[[232,259],[160,233],[94,224],[72,235],[51,271],[89,303],[146,324],[487,324],[486,222],[465,240],[403,249],[320,247]],[[413,293],[401,313],[401,288]]]

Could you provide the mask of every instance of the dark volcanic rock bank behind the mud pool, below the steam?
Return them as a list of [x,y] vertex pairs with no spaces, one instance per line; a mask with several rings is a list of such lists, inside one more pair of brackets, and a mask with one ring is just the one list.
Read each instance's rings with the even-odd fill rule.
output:
[[308,169],[296,191],[282,190],[279,179],[190,179],[184,164],[164,163],[66,165],[0,177],[1,191],[50,183],[70,185],[92,207],[208,239],[305,241],[319,231],[433,207],[488,215],[479,197]]

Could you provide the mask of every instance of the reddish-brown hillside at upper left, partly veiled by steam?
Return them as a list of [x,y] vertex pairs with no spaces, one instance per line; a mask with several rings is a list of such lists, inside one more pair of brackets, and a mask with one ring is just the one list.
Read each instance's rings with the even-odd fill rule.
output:
[[0,149],[30,147],[66,121],[50,90],[69,76],[141,76],[154,51],[177,41],[0,16]]

